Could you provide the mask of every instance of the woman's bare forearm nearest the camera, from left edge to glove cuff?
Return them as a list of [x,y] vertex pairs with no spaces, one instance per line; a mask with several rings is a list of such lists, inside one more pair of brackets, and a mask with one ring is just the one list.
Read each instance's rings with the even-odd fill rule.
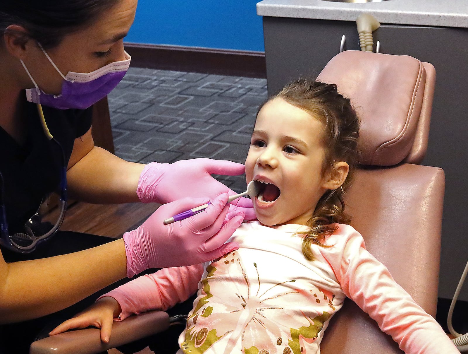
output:
[[125,277],[124,240],[51,258],[0,258],[0,323],[62,310]]

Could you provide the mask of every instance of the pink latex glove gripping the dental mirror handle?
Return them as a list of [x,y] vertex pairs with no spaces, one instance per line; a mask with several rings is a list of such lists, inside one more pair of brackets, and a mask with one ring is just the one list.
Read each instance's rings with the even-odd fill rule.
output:
[[238,212],[226,218],[227,199],[226,193],[221,194],[205,211],[164,225],[169,217],[209,201],[179,199],[160,206],[139,228],[126,232],[127,276],[131,278],[148,268],[203,263],[237,250],[237,243],[224,243],[241,225],[244,215]]

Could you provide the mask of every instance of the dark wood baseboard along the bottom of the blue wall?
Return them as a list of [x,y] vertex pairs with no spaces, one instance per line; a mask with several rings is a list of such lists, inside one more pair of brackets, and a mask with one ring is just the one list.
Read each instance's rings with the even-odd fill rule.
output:
[[125,43],[131,66],[266,78],[264,52]]

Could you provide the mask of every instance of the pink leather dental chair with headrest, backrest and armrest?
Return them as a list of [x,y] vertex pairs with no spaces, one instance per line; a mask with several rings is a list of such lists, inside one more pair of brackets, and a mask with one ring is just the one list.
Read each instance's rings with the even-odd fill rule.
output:
[[[439,168],[418,165],[428,141],[434,67],[408,56],[346,51],[331,59],[317,80],[336,83],[361,118],[361,164],[346,199],[352,226],[395,280],[435,316],[445,178]],[[30,353],[99,353],[168,326],[165,312],[150,311],[114,323],[108,345],[98,329],[85,329],[34,342]],[[403,353],[349,300],[330,320],[321,352]]]

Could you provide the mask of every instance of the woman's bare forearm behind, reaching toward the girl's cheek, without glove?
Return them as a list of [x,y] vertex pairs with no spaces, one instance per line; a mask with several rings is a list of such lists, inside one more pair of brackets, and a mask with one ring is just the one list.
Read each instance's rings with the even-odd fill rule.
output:
[[67,171],[70,197],[95,204],[137,202],[136,191],[144,167],[93,147]]

